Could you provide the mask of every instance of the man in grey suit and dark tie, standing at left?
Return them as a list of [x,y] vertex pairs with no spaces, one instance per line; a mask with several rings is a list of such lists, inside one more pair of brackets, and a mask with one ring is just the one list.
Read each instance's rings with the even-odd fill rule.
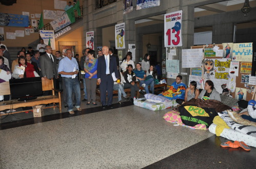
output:
[[[47,45],[46,53],[40,56],[41,75],[45,79],[53,78],[54,88],[56,88],[56,79],[58,78],[57,61],[55,55],[52,54],[51,46]],[[45,92],[45,95],[49,95]]]

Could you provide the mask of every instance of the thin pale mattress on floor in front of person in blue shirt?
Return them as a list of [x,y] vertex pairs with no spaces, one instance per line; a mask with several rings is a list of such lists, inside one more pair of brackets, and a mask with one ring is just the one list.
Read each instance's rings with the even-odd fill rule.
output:
[[163,110],[168,107],[174,107],[178,105],[178,103],[176,103],[176,100],[169,100],[165,102],[154,102],[154,101],[147,101],[145,100],[145,98],[136,99],[133,103],[136,106],[150,109],[153,111]]

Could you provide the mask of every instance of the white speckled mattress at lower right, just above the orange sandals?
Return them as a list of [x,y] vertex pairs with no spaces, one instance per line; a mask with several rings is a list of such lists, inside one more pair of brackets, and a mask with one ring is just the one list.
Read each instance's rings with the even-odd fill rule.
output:
[[[211,133],[216,134],[215,129],[216,129],[217,125],[212,123],[209,126],[209,131]],[[247,144],[248,146],[252,146],[252,147],[256,147],[256,137],[251,136],[251,135],[247,135],[247,134],[243,134],[239,131],[233,130],[231,128],[227,129],[225,128],[221,135],[224,138],[233,140],[233,141],[239,141],[239,142],[244,142],[245,144]]]

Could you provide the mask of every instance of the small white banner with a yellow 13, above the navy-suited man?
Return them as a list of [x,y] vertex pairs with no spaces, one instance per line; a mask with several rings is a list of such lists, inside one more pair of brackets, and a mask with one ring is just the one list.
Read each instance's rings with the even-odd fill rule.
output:
[[124,26],[125,23],[116,24],[115,26],[116,49],[125,49]]

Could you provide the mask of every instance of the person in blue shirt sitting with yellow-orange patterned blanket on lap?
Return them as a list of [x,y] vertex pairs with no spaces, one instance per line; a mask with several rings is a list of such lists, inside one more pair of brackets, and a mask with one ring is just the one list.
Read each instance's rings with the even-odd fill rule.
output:
[[176,81],[173,82],[172,86],[165,91],[160,93],[160,96],[164,96],[168,98],[169,100],[176,100],[176,99],[185,99],[185,91],[187,87],[186,85],[182,82],[182,76],[178,75],[176,77]]

